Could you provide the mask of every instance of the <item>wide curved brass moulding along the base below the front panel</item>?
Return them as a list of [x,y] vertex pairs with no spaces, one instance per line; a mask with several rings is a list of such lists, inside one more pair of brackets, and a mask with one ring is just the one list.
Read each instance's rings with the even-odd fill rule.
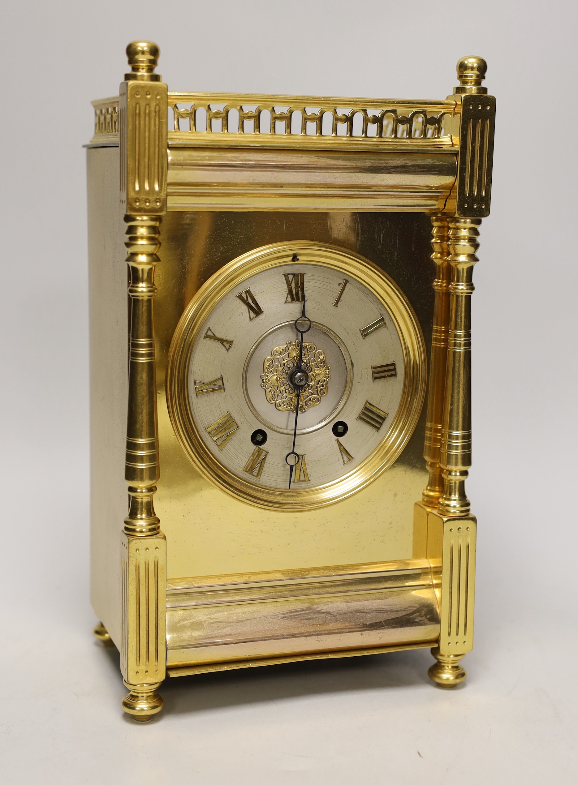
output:
[[168,582],[167,667],[437,641],[426,559]]

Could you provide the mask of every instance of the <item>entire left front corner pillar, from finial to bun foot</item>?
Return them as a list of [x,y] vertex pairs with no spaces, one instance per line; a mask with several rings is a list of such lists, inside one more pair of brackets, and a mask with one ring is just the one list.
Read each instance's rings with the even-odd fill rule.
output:
[[159,480],[153,298],[159,225],[166,211],[167,89],[155,74],[159,48],[126,48],[130,74],[120,86],[121,201],[129,252],[130,341],[123,531],[121,669],[123,709],[148,721],[163,707],[166,676],[166,539],[155,515]]

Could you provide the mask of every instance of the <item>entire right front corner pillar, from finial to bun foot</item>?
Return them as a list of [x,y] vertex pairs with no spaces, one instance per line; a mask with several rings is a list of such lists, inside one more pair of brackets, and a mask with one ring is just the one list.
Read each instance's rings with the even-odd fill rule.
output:
[[[465,57],[459,60],[457,70],[460,84],[454,96],[459,103],[459,159],[453,194],[455,214],[447,218],[451,278],[439,451],[443,491],[437,499],[437,510],[427,513],[426,545],[441,605],[440,639],[432,649],[437,662],[429,674],[445,687],[454,687],[466,677],[459,661],[474,644],[476,519],[470,514],[465,487],[472,463],[471,295],[472,273],[478,261],[478,227],[489,214],[496,113],[495,98],[489,97],[481,85],[485,60]],[[430,480],[424,502],[433,501],[433,492],[428,495],[427,491],[434,488],[437,491]]]

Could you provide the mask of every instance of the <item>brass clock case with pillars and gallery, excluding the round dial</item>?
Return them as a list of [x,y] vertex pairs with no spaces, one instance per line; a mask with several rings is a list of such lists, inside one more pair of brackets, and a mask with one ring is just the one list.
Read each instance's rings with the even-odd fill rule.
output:
[[[460,60],[446,100],[375,100],[171,93],[155,44],[126,53],[86,145],[91,597],[96,636],[120,651],[123,708],[150,719],[166,676],[408,648],[432,648],[430,677],[459,684],[474,622],[470,295],[496,105],[485,61]],[[428,392],[368,488],[276,513],[188,461],[166,359],[214,272],[304,239],[401,287],[430,347]]]

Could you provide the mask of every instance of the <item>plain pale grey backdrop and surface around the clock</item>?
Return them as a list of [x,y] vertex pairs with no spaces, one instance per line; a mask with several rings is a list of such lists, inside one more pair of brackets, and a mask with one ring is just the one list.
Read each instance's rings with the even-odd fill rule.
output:
[[[5,782],[576,782],[576,4],[20,0],[3,20]],[[170,89],[445,97],[459,57],[488,60],[464,688],[409,652],[175,680],[159,721],[123,717],[88,601],[82,144],[134,38]]]

